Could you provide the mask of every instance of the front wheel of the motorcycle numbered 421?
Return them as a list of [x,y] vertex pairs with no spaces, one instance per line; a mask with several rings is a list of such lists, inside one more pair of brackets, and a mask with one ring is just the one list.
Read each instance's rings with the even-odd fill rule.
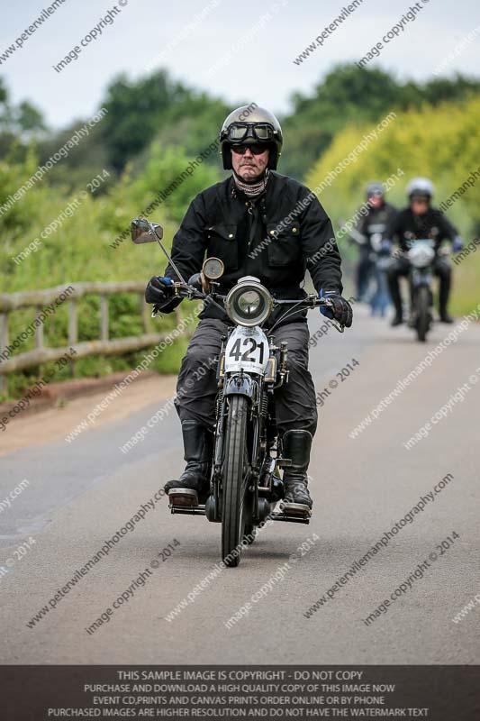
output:
[[245,396],[229,401],[222,492],[222,559],[233,568],[240,563],[246,531],[249,457],[247,418],[249,402]]

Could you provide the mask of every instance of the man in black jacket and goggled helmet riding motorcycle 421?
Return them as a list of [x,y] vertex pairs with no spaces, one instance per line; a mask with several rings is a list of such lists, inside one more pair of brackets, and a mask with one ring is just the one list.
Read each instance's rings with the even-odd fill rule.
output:
[[[254,108],[253,110],[251,108]],[[341,296],[340,253],[331,221],[316,196],[293,178],[276,173],[282,151],[282,129],[274,114],[243,105],[225,119],[220,132],[224,169],[229,178],[199,193],[180,225],[172,244],[172,259],[184,278],[202,268],[204,257],[220,258],[225,266],[220,292],[226,293],[239,278],[255,276],[276,298],[302,298],[300,284],[309,269],[321,297],[330,297],[333,310],[324,315],[351,325],[352,310]],[[165,276],[150,278],[145,291],[148,303],[169,313],[180,302],[172,300],[170,265]],[[267,321],[271,327],[277,308]],[[231,324],[223,309],[205,303],[200,323],[182,360],[177,381],[176,407],[182,424],[186,469],[166,491],[192,488],[204,497],[209,487],[209,461],[213,451],[215,367],[201,377],[195,369],[218,356],[222,335]],[[312,507],[307,469],[317,408],[312,376],[308,370],[306,311],[281,322],[274,331],[276,345],[288,342],[290,377],[276,390],[276,422],[284,436],[284,455],[293,464],[285,469],[285,501]],[[205,363],[204,363],[205,365]]]

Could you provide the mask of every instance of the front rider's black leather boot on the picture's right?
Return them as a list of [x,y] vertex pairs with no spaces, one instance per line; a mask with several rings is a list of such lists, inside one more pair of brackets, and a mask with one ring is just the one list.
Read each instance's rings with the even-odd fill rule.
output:
[[284,471],[284,503],[301,503],[312,508],[312,498],[307,488],[307,469],[310,462],[312,434],[308,431],[286,431],[283,454],[292,461]]

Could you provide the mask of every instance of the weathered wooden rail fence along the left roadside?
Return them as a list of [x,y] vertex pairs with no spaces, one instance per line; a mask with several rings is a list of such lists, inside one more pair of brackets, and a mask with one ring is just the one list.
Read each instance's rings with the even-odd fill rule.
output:
[[[131,351],[140,351],[149,345],[156,345],[167,335],[149,333],[149,306],[144,299],[145,283],[141,280],[123,280],[108,283],[76,283],[75,286],[57,286],[44,290],[28,290],[22,293],[0,293],[0,392],[7,390],[7,375],[15,370],[33,368],[51,360],[58,360],[73,346],[77,352],[75,360],[89,355],[121,355]],[[139,313],[144,333],[138,336],[109,339],[108,297],[117,293],[136,293],[139,296]],[[78,342],[77,301],[86,295],[100,296],[100,338],[97,341]],[[47,306],[55,308],[68,303],[68,345],[62,348],[49,348],[44,344],[43,322],[34,329],[35,350],[18,353],[8,357],[9,315],[19,308],[35,307],[36,318],[44,313]],[[176,310],[180,320],[179,309]],[[48,316],[47,316],[48,317]],[[27,336],[28,337],[28,336]],[[13,342],[15,342],[14,339]],[[12,348],[12,346],[10,346]],[[14,350],[14,349],[12,349]],[[7,351],[7,357],[5,356]]]

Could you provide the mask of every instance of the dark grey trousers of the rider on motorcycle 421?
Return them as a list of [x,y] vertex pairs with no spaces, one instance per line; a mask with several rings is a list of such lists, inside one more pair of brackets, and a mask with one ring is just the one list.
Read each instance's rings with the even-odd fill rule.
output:
[[[178,375],[175,405],[181,421],[196,420],[213,428],[217,394],[216,363],[227,326],[220,320],[200,321],[190,341]],[[308,370],[308,326],[281,325],[274,331],[276,345],[288,342],[288,383],[275,391],[276,424],[280,434],[288,430],[310,431],[317,427],[317,406]]]

